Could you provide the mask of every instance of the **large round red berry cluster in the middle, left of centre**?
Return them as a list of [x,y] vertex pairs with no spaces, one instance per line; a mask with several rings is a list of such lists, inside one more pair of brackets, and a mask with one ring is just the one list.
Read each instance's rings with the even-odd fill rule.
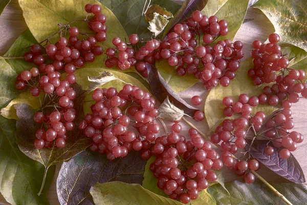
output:
[[[115,88],[96,89],[92,97],[96,101],[91,107],[93,114],[86,114],[79,124],[79,129],[93,138],[91,150],[106,153],[112,160],[143,149],[141,156],[148,159],[151,142],[160,131],[155,122],[159,114],[155,99],[129,84],[119,92]],[[120,108],[125,106],[128,107],[122,112]]]

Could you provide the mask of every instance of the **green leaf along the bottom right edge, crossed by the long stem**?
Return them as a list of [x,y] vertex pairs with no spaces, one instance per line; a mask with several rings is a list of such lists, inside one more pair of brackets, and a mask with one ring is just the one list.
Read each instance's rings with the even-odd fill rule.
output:
[[[292,204],[305,204],[306,183],[271,183],[271,185]],[[259,180],[255,180],[251,184],[242,181],[226,182],[225,186],[229,190],[230,196],[220,185],[213,185],[207,189],[217,204],[286,204]]]

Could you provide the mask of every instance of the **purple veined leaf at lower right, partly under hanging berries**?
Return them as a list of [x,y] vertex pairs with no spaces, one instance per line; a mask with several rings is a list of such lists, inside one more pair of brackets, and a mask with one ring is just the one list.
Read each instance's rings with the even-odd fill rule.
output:
[[274,148],[275,152],[272,156],[265,154],[267,142],[265,140],[258,141],[253,146],[255,149],[251,150],[251,155],[270,170],[290,181],[295,183],[306,182],[302,168],[292,154],[288,159],[282,159],[279,156],[277,148]]

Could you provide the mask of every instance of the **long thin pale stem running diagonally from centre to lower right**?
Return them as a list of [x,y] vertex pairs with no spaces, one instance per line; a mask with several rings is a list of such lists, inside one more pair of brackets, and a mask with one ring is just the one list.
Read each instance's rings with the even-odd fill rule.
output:
[[[200,131],[198,128],[196,128],[191,122],[189,122],[186,118],[182,117],[182,119],[191,127],[194,128],[201,134],[205,139],[210,140],[208,136],[205,135],[202,131]],[[211,140],[210,140],[211,141]],[[211,142],[213,143],[213,142]],[[220,145],[213,143],[217,148],[221,148]],[[238,159],[236,156],[232,155],[233,158]],[[293,205],[286,197],[284,197],[280,192],[278,192],[266,179],[264,179],[262,176],[260,176],[257,172],[251,170],[251,173],[253,173],[260,181],[262,181],[266,186],[268,186],[279,198],[281,198],[285,203],[288,205]]]

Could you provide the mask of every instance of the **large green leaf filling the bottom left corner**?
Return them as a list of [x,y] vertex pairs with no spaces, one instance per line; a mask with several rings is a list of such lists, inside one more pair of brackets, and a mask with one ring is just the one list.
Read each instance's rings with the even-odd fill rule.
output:
[[45,167],[18,149],[15,130],[15,120],[0,116],[0,192],[11,204],[49,204],[46,193],[55,166],[49,168],[45,189],[38,196]]

